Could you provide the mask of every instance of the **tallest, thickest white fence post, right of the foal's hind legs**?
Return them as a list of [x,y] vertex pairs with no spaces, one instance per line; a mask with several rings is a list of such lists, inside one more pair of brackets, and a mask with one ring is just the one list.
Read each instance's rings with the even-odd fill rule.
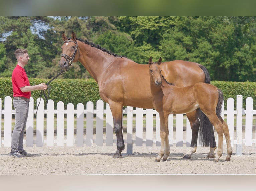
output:
[[236,144],[236,155],[242,155],[242,143],[243,143],[243,96],[237,95],[237,144]]

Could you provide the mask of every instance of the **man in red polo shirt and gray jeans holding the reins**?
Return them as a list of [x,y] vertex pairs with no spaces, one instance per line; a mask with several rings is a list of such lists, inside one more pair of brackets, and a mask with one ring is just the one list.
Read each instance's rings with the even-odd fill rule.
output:
[[24,130],[26,128],[29,100],[31,91],[47,89],[45,83],[30,86],[29,80],[24,70],[28,64],[29,56],[26,49],[15,51],[17,66],[12,72],[13,106],[15,108],[15,126],[12,132],[11,157],[21,158],[31,157],[33,154],[26,152],[23,148]]

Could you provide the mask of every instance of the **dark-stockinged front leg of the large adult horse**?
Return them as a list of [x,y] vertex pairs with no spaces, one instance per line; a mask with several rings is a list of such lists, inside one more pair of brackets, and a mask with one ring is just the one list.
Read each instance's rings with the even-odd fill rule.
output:
[[110,103],[110,109],[112,111],[114,129],[117,139],[117,150],[113,155],[113,158],[122,158],[121,152],[124,150],[124,138],[123,138],[123,106],[118,103]]

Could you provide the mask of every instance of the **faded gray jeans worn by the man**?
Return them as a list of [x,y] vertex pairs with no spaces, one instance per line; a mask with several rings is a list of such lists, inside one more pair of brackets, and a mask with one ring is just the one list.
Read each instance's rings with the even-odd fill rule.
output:
[[15,126],[12,132],[11,152],[23,151],[24,130],[26,129],[29,102],[13,99],[15,108]]

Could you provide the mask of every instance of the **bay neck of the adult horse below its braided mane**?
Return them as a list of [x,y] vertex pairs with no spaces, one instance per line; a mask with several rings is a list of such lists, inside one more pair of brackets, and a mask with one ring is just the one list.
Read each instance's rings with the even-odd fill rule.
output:
[[[79,61],[98,83],[107,72],[105,69],[113,62],[112,59],[114,59],[114,57],[82,42],[80,46],[82,47],[79,47]],[[81,50],[83,50],[83,52]]]

